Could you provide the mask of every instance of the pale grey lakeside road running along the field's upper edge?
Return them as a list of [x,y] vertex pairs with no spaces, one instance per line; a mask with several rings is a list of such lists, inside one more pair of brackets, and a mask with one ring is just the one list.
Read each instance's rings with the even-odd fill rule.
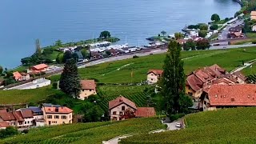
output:
[[[256,44],[250,44],[250,45],[229,45],[229,46],[211,46],[209,50],[225,50],[225,49],[235,49],[235,48],[243,48],[243,47],[253,47],[256,46]],[[110,57],[110,58],[102,58],[98,59],[94,62],[88,62],[86,64],[83,64],[82,66],[78,66],[78,68],[84,68],[87,66],[94,66],[98,65],[104,62],[114,62],[114,61],[119,61],[119,60],[124,60],[128,58],[133,58],[134,55],[137,55],[138,57],[143,57],[146,55],[150,54],[163,54],[166,53],[166,50],[163,49],[156,49],[156,50],[150,50],[150,51],[145,51],[145,52],[140,52],[140,53],[134,53],[134,54],[126,54],[126,55],[120,55],[117,57]]]

